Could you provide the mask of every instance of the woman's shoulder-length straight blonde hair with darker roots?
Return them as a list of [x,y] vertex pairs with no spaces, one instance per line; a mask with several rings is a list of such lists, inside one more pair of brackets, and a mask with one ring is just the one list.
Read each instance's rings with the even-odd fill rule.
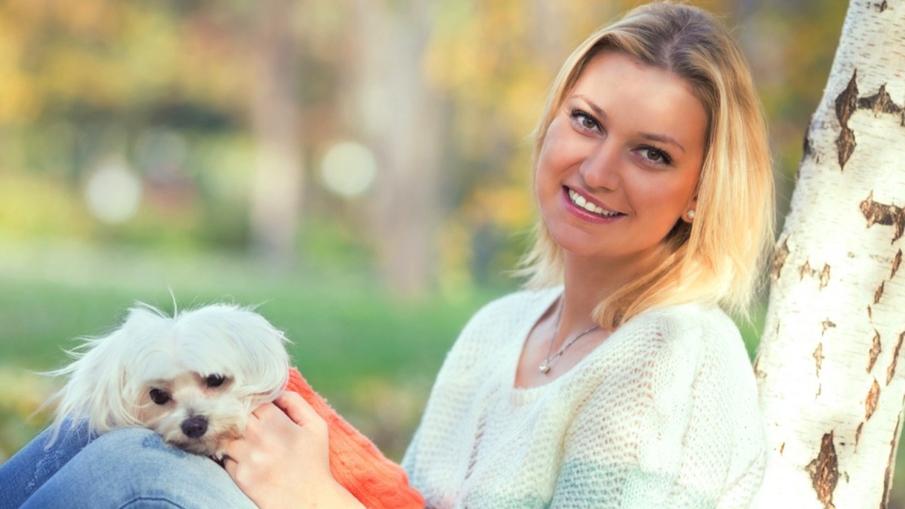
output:
[[[660,264],[607,296],[595,321],[607,328],[644,310],[712,303],[748,316],[748,305],[773,245],[773,174],[767,127],[748,63],[726,30],[690,5],[637,7],[591,34],[568,57],[534,131],[534,171],[550,123],[587,62],[603,51],[627,54],[681,77],[708,115],[696,216],[679,219],[661,245]],[[563,252],[538,220],[519,274],[526,286],[562,283]]]

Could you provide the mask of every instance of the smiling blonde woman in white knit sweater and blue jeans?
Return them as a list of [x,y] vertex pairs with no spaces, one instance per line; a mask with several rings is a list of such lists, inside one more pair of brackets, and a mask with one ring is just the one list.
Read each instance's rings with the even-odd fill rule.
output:
[[[700,9],[653,4],[592,34],[538,124],[534,187],[529,289],[487,305],[452,347],[405,454],[412,485],[429,507],[747,506],[765,438],[719,305],[747,309],[773,187],[726,32]],[[322,421],[293,395],[258,408],[227,450],[235,485],[147,442],[126,430],[75,447],[26,505],[84,488],[76,465],[143,479],[130,500],[187,506],[204,491],[250,504],[238,485],[263,508],[360,506],[329,474]],[[138,452],[112,458],[120,447]]]

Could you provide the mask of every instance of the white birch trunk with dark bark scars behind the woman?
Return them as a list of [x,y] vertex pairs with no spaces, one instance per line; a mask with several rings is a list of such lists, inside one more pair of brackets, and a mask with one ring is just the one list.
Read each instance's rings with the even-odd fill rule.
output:
[[852,0],[805,136],[755,362],[755,507],[885,507],[905,362],[905,1]]

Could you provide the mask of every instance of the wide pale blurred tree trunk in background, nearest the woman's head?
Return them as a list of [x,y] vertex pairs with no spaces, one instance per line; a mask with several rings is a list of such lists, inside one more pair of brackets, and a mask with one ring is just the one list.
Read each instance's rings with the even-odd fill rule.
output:
[[430,0],[358,0],[349,78],[357,128],[376,154],[372,201],[380,275],[399,293],[423,293],[435,277],[435,232],[443,214],[443,102],[422,62],[436,21]]

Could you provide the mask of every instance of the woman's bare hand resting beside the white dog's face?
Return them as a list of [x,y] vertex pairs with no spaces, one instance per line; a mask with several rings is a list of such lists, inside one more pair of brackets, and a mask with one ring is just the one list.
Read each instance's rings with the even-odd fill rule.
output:
[[294,392],[252,412],[224,467],[262,509],[362,506],[330,474],[327,423]]

